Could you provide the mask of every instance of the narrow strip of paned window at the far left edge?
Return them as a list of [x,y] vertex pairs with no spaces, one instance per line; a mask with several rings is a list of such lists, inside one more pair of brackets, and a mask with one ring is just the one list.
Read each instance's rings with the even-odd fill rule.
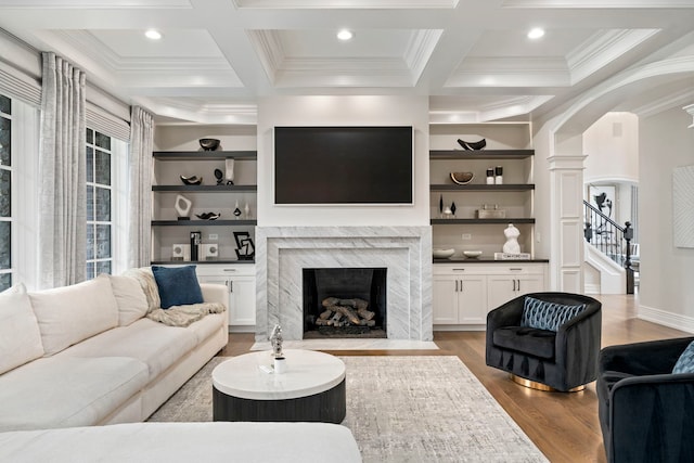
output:
[[0,95],[0,291],[12,286],[12,100]]

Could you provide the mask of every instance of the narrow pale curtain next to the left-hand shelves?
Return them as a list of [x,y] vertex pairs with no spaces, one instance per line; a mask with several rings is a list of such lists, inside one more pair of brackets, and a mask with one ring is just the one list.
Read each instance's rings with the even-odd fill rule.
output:
[[130,115],[130,207],[128,220],[128,267],[150,265],[152,256],[152,149],[154,119],[140,106]]

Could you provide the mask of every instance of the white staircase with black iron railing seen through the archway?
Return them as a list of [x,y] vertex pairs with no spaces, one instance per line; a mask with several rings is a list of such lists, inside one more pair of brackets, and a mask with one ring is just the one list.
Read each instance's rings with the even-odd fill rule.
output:
[[587,201],[583,201],[583,217],[586,217],[583,237],[588,242],[586,261],[600,272],[600,292],[633,294],[631,223],[626,222],[625,227],[621,227]]

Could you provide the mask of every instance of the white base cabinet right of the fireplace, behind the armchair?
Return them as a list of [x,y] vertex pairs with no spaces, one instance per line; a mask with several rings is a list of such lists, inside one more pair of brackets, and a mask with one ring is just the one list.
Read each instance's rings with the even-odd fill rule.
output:
[[545,291],[547,262],[437,263],[434,324],[484,327],[487,313],[527,293]]

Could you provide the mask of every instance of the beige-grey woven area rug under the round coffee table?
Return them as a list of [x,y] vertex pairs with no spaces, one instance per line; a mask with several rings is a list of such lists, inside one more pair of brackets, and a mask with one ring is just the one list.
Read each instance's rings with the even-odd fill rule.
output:
[[[547,462],[454,356],[340,357],[364,462]],[[210,360],[150,421],[211,421]]]

